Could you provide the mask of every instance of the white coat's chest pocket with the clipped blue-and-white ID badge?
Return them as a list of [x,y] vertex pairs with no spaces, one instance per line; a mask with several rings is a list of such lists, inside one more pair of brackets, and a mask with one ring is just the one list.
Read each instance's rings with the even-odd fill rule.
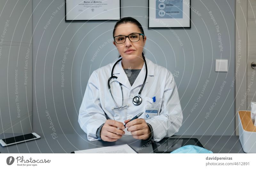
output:
[[154,102],[152,98],[145,97],[145,110],[143,116],[145,120],[151,119],[152,117],[159,115],[162,100],[163,98],[156,98],[156,101]]

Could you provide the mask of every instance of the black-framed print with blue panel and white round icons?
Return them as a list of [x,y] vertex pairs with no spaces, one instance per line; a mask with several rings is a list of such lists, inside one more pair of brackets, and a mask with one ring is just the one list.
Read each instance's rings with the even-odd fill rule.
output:
[[148,0],[148,28],[190,28],[190,0]]

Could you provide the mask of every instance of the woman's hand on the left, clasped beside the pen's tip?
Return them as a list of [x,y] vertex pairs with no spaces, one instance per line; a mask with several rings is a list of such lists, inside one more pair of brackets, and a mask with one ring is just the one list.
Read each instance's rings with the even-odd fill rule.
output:
[[114,142],[124,135],[124,128],[123,123],[108,119],[101,128],[100,137],[103,141]]

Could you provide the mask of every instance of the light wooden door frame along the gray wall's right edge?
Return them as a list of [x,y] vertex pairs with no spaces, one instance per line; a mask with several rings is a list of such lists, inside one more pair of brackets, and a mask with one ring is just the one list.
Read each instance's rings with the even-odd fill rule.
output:
[[[248,0],[236,0],[236,63],[235,79],[236,84],[236,135],[238,131],[238,111],[247,110],[247,3]],[[240,49],[238,47],[241,47]],[[244,99],[244,95],[246,99]],[[244,103],[241,100],[244,99]]]

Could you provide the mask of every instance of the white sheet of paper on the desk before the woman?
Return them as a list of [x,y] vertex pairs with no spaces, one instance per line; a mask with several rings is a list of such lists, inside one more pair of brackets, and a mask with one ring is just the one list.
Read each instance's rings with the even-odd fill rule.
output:
[[136,153],[127,144],[75,151],[75,153]]

